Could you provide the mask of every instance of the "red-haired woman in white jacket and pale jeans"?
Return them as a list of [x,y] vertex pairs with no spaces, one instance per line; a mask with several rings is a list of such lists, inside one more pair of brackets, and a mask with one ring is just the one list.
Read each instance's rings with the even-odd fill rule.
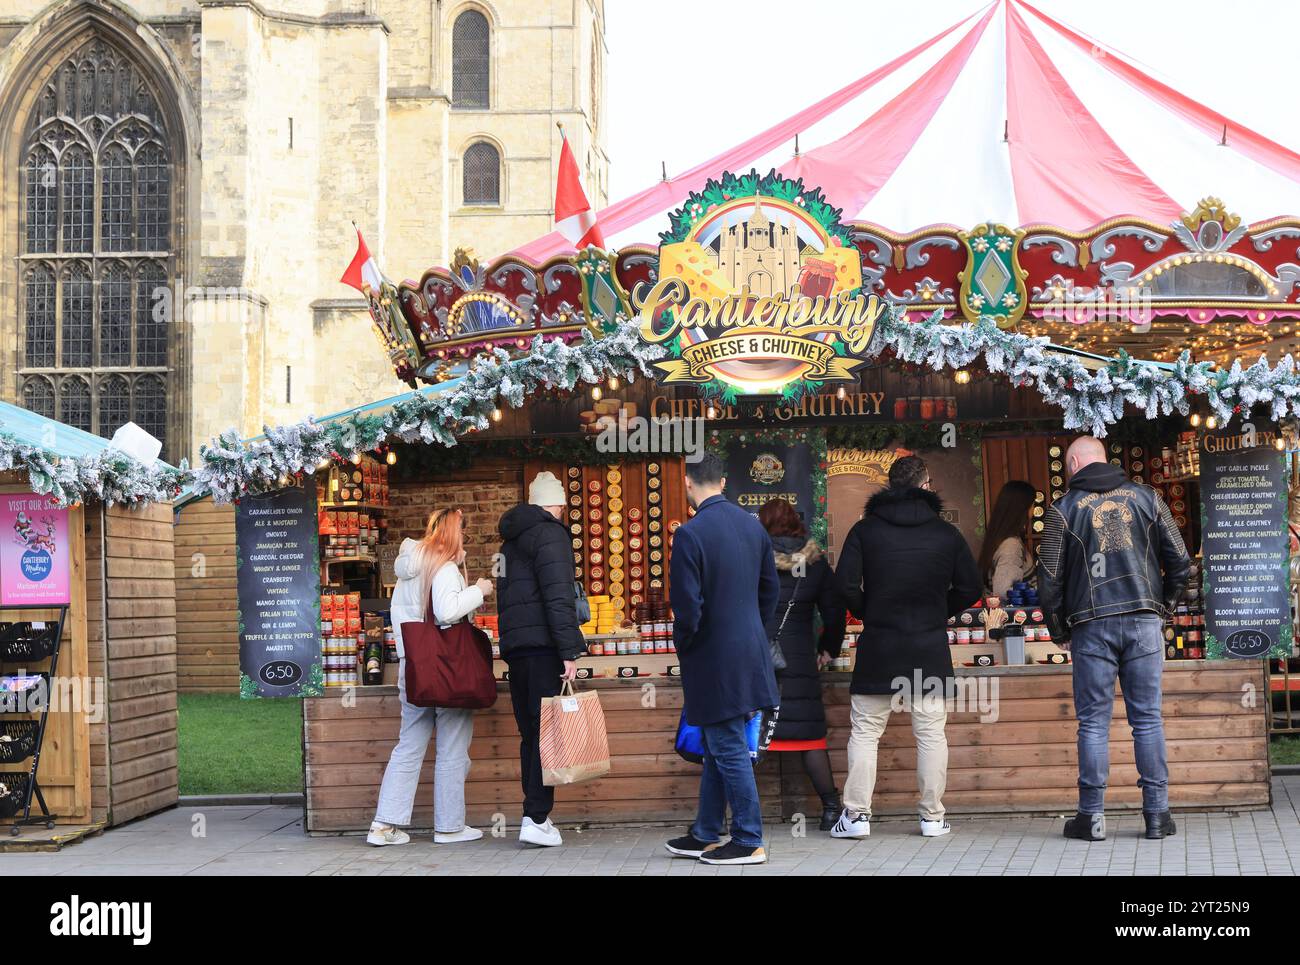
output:
[[438,844],[473,841],[484,832],[465,826],[465,774],[469,771],[469,740],[474,732],[473,710],[417,707],[406,700],[406,650],[402,624],[424,619],[430,602],[441,624],[455,623],[484,605],[491,580],[465,585],[460,564],[465,562],[460,510],[438,510],[429,516],[424,538],[403,540],[394,563],[398,584],[393,590],[393,633],[402,666],[398,694],[402,700],[402,730],[384,770],[380,804],[365,840],[370,844],[406,844],[402,826],[411,823],[411,809],[420,783],[420,767],[429,737],[438,728],[438,757],[433,766],[433,840]]

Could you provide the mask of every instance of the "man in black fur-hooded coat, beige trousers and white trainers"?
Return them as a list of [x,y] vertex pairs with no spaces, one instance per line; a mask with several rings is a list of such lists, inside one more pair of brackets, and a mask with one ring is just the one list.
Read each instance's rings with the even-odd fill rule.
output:
[[966,540],[940,518],[919,456],[889,467],[889,486],[867,502],[840,551],[837,576],[849,610],[862,618],[849,688],[849,778],[835,838],[871,832],[876,753],[889,714],[911,711],[920,784],[920,832],[948,834],[942,795],[948,783],[946,697],[953,691],[948,618],[980,596],[980,576]]

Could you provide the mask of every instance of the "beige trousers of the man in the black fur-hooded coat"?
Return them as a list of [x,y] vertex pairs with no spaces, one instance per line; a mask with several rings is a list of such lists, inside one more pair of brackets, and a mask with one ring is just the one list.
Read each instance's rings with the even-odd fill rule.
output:
[[[871,817],[876,789],[876,753],[880,735],[889,723],[893,697],[888,693],[855,693],[849,707],[849,779],[844,806]],[[944,819],[944,788],[948,784],[948,709],[941,697],[918,697],[911,704],[911,732],[916,739],[916,783],[920,786],[923,821]]]

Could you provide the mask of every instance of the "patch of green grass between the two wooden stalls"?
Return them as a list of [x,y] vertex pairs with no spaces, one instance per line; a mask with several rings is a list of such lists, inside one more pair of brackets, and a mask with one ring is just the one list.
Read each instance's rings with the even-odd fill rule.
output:
[[303,704],[238,693],[179,694],[182,795],[303,789]]

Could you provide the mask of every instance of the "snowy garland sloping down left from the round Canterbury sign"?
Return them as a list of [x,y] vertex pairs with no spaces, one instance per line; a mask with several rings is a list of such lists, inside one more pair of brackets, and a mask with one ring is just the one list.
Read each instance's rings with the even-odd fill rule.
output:
[[192,485],[200,494],[229,502],[246,492],[274,489],[286,476],[313,471],[329,459],[350,459],[377,449],[390,437],[454,446],[458,436],[486,429],[495,408],[519,408],[537,391],[597,385],[611,376],[630,382],[637,375],[650,376],[650,363],[663,354],[660,346],[641,341],[637,324],[630,321],[599,339],[584,332],[573,345],[536,336],[526,355],[511,358],[495,349],[480,358],[455,388],[413,395],[382,417],[356,416],[326,425],[308,419],[296,425],[268,427],[265,437],[254,442],[228,429],[200,447],[199,464],[191,471]]

